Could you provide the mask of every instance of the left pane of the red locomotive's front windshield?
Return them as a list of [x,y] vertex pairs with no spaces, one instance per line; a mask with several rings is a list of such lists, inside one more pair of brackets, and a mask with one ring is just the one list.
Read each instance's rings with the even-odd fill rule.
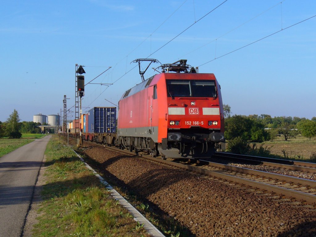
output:
[[167,80],[168,97],[190,97],[191,85],[189,80]]

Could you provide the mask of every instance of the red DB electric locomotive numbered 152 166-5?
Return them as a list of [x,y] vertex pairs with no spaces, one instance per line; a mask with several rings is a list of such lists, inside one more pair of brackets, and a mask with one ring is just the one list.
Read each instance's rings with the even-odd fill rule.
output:
[[127,90],[119,101],[117,143],[162,158],[210,157],[224,142],[220,85],[186,60]]

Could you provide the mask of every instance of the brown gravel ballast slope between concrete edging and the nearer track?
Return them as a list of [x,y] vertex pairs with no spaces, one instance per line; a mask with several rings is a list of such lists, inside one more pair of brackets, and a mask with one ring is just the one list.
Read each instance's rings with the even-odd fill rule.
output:
[[100,163],[105,179],[168,213],[190,236],[316,236],[312,206],[102,147],[85,153]]

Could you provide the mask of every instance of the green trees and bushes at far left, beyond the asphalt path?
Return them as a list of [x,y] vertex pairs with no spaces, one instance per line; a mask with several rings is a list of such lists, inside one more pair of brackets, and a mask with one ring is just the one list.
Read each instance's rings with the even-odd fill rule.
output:
[[20,122],[19,113],[14,110],[6,122],[0,121],[0,138],[21,138],[22,133],[41,133],[40,123]]

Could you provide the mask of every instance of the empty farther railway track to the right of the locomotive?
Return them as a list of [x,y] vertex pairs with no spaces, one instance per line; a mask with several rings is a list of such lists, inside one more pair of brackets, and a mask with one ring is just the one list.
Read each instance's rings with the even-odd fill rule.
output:
[[[233,154],[236,155],[236,154]],[[296,171],[302,171],[302,172],[310,172],[310,173],[316,173],[316,168],[315,167],[305,167],[302,165],[296,165],[298,162],[303,163],[305,165],[315,165],[314,163],[307,163],[307,162],[301,162],[301,161],[292,161],[293,164],[283,164],[283,163],[275,163],[275,162],[269,162],[269,161],[261,161],[261,160],[252,160],[250,159],[251,157],[256,157],[256,156],[249,156],[249,158],[240,158],[240,157],[234,157],[234,156],[227,156],[227,155],[213,155],[214,158],[232,158],[234,160],[238,161],[250,161],[250,162],[260,162],[260,165],[266,165],[266,166],[271,166],[271,167],[277,167],[277,168],[283,168],[283,169],[289,169],[289,170],[296,170]],[[271,158],[266,158],[266,159],[271,159]],[[272,159],[271,161],[278,161],[278,159]],[[281,160],[281,161],[286,161],[286,160]],[[290,163],[290,162],[289,162]]]

